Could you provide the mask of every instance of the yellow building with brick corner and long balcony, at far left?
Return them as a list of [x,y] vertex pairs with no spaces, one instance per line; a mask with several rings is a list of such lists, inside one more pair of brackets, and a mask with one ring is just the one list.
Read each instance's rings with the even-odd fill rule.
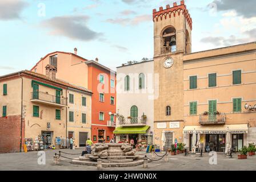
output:
[[[87,123],[75,123],[77,131],[89,132],[91,92],[70,85],[55,78],[55,68],[47,65],[46,75],[31,71],[21,71],[0,77],[0,152],[18,152],[22,144],[30,142],[35,148],[36,138],[43,138],[44,148],[55,145],[55,139],[67,138],[67,94],[85,96],[87,106],[74,107],[74,113],[87,114]],[[69,125],[68,125],[69,127]],[[82,127],[85,127],[83,129]],[[33,142],[31,142],[31,139]],[[78,140],[79,142],[79,140]]]

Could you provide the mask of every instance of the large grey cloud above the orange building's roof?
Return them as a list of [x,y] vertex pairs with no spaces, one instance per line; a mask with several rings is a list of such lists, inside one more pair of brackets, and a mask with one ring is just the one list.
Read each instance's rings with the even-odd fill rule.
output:
[[90,41],[98,39],[101,33],[90,30],[86,26],[89,16],[55,16],[42,22],[42,27],[50,28],[50,34],[65,36],[73,40]]

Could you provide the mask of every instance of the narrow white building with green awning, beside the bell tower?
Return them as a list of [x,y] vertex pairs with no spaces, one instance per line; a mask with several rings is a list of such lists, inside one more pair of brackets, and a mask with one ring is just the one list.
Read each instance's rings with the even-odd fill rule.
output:
[[129,62],[117,67],[116,142],[153,144],[154,61]]

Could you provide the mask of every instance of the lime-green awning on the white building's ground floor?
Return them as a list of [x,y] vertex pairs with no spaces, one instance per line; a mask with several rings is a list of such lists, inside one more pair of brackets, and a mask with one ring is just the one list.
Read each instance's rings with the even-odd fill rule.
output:
[[114,134],[146,134],[150,126],[117,127]]

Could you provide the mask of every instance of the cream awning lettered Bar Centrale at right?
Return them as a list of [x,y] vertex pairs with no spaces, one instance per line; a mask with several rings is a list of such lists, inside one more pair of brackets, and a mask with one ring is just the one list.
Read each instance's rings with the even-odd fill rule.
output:
[[223,126],[185,126],[183,134],[193,134],[193,131],[199,134],[231,134],[248,133],[248,125],[223,125]]

